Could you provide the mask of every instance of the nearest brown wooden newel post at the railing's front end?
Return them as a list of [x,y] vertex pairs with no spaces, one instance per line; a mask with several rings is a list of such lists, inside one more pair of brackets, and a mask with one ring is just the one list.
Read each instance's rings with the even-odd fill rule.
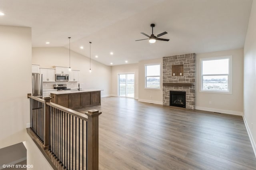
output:
[[88,111],[87,127],[87,152],[88,152],[88,170],[99,169],[99,113],[98,110]]

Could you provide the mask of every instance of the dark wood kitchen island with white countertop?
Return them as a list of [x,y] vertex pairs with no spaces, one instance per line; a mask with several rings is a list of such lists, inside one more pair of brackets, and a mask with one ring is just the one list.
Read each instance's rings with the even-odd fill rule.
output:
[[50,97],[52,103],[75,110],[100,105],[100,91],[97,89],[53,91]]

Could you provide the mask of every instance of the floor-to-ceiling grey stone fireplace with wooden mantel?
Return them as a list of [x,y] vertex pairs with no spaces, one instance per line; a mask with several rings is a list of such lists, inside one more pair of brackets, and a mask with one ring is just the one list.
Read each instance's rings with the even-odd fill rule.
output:
[[[163,57],[163,105],[170,106],[170,91],[182,91],[186,96],[185,108],[195,109],[195,67],[195,53]],[[180,105],[179,100],[175,104]]]

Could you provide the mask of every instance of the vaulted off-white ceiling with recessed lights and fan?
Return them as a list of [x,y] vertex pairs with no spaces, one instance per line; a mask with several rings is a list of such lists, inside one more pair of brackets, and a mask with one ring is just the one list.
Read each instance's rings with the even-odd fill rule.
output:
[[[33,47],[66,47],[110,65],[242,48],[252,0],[1,0],[0,25],[32,28]],[[150,44],[140,34],[164,31]],[[46,44],[45,42],[50,42]],[[84,46],[84,49],[80,49]],[[113,51],[114,55],[110,55]],[[69,55],[69,54],[67,54]],[[98,58],[94,56],[98,55]]]

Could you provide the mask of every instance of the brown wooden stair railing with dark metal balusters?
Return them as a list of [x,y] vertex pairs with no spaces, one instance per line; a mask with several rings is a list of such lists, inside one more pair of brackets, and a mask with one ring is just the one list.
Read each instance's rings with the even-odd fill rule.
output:
[[98,170],[98,110],[84,114],[30,98],[28,134],[54,169]]

